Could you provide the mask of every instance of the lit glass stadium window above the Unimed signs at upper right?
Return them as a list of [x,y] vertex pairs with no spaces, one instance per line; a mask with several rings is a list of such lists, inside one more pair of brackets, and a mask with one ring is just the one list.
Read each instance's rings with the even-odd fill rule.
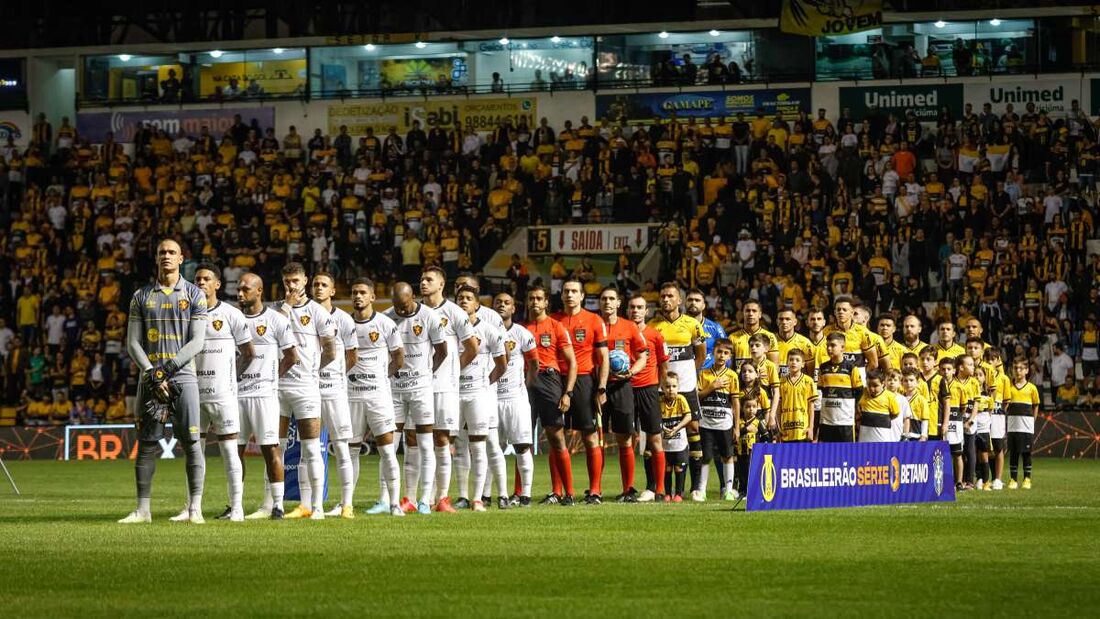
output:
[[1034,63],[1034,20],[941,20],[816,38],[818,80],[1008,74]]

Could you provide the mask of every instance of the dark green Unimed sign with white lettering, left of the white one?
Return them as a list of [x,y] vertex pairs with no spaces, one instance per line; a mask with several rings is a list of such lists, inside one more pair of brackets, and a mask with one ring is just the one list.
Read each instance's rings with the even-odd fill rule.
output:
[[927,84],[920,86],[853,86],[840,87],[840,109],[850,108],[856,119],[865,118],[872,108],[899,120],[913,110],[917,120],[932,122],[946,107],[955,118],[963,114],[961,84]]

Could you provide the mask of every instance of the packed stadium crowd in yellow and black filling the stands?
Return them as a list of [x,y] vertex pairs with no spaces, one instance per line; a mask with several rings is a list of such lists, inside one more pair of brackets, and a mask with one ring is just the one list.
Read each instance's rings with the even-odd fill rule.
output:
[[[979,108],[282,139],[238,118],[220,136],[145,126],[132,150],[40,115],[28,148],[0,148],[3,401],[23,423],[132,420],[122,306],[164,236],[183,241],[185,278],[216,264],[232,299],[255,272],[274,300],[292,261],[384,295],[425,265],[479,272],[515,224],[649,221],[663,223],[658,280],[701,289],[728,331],[749,299],[774,331],[782,309],[805,324],[851,295],[898,325],[912,313],[933,342],[943,320],[977,321],[1053,402],[1097,404],[1100,125],[1077,101],[1057,118]],[[653,281],[620,266],[624,296],[656,306]],[[591,265],[560,261],[550,290],[571,274],[598,294]]]

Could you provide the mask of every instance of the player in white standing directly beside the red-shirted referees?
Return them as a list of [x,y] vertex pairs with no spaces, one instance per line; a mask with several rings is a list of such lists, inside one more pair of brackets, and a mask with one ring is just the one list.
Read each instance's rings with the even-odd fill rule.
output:
[[535,477],[531,445],[535,438],[531,430],[531,401],[527,389],[535,385],[538,377],[538,352],[531,332],[513,322],[516,300],[512,295],[497,295],[493,299],[493,309],[504,323],[504,349],[508,353],[507,369],[496,382],[501,433],[516,452],[516,488],[508,502],[513,507],[530,507],[531,480]]

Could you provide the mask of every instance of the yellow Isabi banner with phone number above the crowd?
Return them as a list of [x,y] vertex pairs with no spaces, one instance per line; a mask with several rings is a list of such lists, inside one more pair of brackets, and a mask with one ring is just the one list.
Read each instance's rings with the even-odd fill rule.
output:
[[382,101],[371,103],[336,103],[329,106],[329,135],[337,135],[340,125],[348,125],[351,135],[365,135],[366,128],[374,128],[375,135],[385,135],[396,128],[404,136],[420,121],[425,131],[433,126],[451,129],[457,122],[463,129],[492,131],[502,122],[518,124],[526,118],[528,126],[538,121],[538,99],[535,97],[492,97],[485,99],[429,99],[410,101]]

